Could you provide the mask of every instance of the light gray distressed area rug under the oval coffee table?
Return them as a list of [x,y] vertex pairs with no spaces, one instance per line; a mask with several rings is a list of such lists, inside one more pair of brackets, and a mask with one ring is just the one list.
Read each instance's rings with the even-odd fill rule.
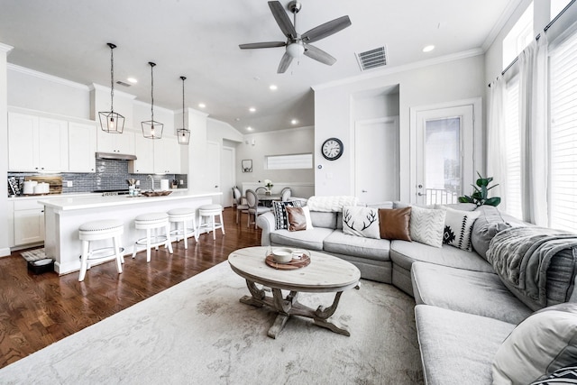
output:
[[[362,280],[343,293],[337,335],[239,302],[245,281],[227,261],[0,370],[0,383],[419,384],[414,301]],[[89,294],[87,294],[89,295]],[[303,293],[328,306],[333,295]]]

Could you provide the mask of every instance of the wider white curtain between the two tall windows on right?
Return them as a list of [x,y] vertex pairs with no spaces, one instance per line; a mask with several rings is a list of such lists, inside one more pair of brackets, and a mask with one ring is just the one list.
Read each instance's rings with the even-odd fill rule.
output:
[[545,32],[518,57],[523,220],[548,221],[547,40]]

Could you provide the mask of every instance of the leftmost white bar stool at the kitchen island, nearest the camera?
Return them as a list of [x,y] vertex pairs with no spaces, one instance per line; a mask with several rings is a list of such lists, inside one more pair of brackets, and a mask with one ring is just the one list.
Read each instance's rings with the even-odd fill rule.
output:
[[[87,270],[94,263],[116,260],[116,270],[123,272],[124,249],[120,247],[120,236],[124,233],[124,224],[117,219],[102,219],[91,221],[78,227],[78,238],[82,241],[82,255],[80,256],[80,275],[78,281],[82,282],[87,274]],[[90,243],[105,239],[113,240],[113,247],[103,247],[90,250]],[[111,253],[112,251],[112,253]]]

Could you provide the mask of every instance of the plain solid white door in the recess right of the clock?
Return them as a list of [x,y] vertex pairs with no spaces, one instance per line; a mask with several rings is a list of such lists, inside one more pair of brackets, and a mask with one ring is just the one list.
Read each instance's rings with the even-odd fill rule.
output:
[[360,121],[354,127],[355,196],[364,203],[398,200],[398,118]]

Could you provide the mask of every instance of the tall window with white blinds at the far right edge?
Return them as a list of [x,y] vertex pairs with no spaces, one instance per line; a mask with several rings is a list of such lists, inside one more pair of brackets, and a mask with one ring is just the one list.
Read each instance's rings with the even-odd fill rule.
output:
[[577,33],[550,53],[551,227],[577,230]]

